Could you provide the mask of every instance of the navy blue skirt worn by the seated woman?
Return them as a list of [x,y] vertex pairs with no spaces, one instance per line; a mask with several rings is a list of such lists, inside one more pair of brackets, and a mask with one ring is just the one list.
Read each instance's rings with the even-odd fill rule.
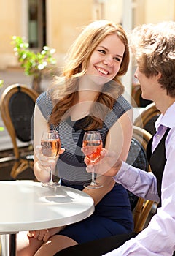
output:
[[[61,181],[61,185],[82,190],[82,185],[73,185]],[[82,244],[99,238],[106,238],[133,231],[133,216],[127,190],[120,184],[103,197],[95,211],[87,219],[68,225],[59,235]]]

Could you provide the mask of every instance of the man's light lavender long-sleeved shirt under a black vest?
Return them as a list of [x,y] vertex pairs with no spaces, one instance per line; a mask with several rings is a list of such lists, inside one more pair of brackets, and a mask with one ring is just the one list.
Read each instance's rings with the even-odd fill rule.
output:
[[[175,102],[158,118],[155,127],[157,132],[152,142],[152,151],[163,138],[166,128],[171,128],[166,138],[167,161],[161,188],[162,206],[148,227],[136,238],[131,238],[105,256],[171,256],[175,251]],[[160,200],[157,181],[152,173],[145,173],[123,162],[114,180],[145,199]]]

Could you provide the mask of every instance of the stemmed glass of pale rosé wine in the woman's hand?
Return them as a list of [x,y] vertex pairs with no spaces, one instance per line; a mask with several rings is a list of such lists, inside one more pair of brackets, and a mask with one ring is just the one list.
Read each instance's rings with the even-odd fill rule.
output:
[[[55,160],[58,157],[59,151],[61,149],[61,140],[59,138],[58,132],[51,130],[49,132],[42,133],[42,154],[48,157],[50,160]],[[61,185],[52,180],[52,165],[50,165],[50,181],[43,183],[43,187],[60,187]]]

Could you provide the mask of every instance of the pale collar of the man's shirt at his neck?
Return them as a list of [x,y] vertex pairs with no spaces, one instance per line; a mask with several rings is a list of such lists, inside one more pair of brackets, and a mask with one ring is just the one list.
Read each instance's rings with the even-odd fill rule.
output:
[[166,113],[161,114],[157,121],[155,121],[155,129],[158,130],[160,125],[164,127],[175,127],[175,102],[166,110]]

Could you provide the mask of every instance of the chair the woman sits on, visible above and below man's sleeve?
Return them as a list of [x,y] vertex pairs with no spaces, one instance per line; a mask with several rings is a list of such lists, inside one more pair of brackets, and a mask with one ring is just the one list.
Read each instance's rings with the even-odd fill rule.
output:
[[[141,170],[151,171],[146,156],[147,143],[150,138],[152,138],[152,135],[150,135],[149,132],[140,127],[133,126],[133,138],[126,160],[128,164],[138,167]],[[149,212],[151,211],[154,202],[137,197],[129,191],[128,195],[133,211],[134,231],[140,232],[147,222],[147,217],[149,216]]]

